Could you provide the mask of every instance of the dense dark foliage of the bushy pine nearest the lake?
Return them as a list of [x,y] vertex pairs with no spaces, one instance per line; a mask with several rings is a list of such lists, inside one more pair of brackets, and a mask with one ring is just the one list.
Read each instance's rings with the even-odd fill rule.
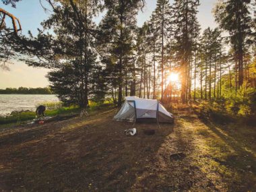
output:
[[104,92],[95,91],[97,86],[104,90],[104,83],[95,77],[102,75],[102,67],[96,61],[93,43],[96,34],[93,32],[95,24],[92,16],[98,9],[98,1],[70,5],[64,3],[63,7],[58,8],[58,12],[42,24],[45,30],[53,28],[57,36],[54,40],[57,50],[55,46],[51,46],[53,52],[58,53],[53,61],[57,65],[55,64],[55,70],[49,72],[47,77],[51,82],[51,89],[66,105],[77,104],[86,108],[89,95],[104,100]]

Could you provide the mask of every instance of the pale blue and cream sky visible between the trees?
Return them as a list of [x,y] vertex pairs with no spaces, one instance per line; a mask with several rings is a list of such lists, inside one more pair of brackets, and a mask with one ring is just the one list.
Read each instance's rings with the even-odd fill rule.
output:
[[[172,2],[173,0],[170,1],[170,4]],[[212,9],[216,2],[217,0],[200,1],[197,18],[202,30],[207,27],[214,28],[217,26],[212,15]],[[46,2],[42,1],[42,3],[47,6]],[[42,9],[39,0],[19,1],[16,4],[16,8],[11,7],[11,5],[3,5],[0,0],[0,7],[20,19],[22,34],[28,34],[28,30],[30,30],[34,36],[37,34],[37,28],[40,28],[40,23],[51,14],[50,11],[45,12]],[[139,11],[137,15],[137,25],[142,26],[143,22],[149,20],[155,8],[156,0],[146,0],[146,7],[143,8],[143,11]],[[96,22],[99,21],[100,18],[96,18]],[[0,69],[0,89],[18,88],[20,86],[29,88],[49,86],[49,82],[45,77],[49,69],[28,67],[22,61],[12,61],[12,63],[9,65],[9,71]]]

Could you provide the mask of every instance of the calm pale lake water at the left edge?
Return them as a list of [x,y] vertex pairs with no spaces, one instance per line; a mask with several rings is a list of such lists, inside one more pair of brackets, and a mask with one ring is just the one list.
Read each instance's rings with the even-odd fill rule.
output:
[[0,94],[0,115],[13,110],[36,110],[36,104],[59,101],[55,95]]

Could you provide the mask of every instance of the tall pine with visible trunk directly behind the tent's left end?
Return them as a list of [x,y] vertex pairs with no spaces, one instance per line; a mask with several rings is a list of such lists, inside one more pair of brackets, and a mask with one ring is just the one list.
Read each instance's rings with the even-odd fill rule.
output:
[[115,65],[118,81],[118,101],[121,106],[123,99],[123,84],[125,73],[125,57],[132,55],[133,34],[136,28],[136,15],[141,1],[105,1],[106,15],[100,22],[98,44],[108,65]]

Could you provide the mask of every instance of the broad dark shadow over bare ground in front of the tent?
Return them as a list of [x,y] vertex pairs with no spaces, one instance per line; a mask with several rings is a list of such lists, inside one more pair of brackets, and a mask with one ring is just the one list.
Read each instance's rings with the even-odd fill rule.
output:
[[[96,120],[66,132],[53,131],[49,125],[3,137],[0,189],[128,190],[143,171],[148,154],[154,154],[173,132],[170,124],[158,129],[157,123],[137,123],[139,134],[129,137],[123,131],[131,123],[113,121],[109,114]],[[156,134],[144,135],[143,129],[156,129]]]

